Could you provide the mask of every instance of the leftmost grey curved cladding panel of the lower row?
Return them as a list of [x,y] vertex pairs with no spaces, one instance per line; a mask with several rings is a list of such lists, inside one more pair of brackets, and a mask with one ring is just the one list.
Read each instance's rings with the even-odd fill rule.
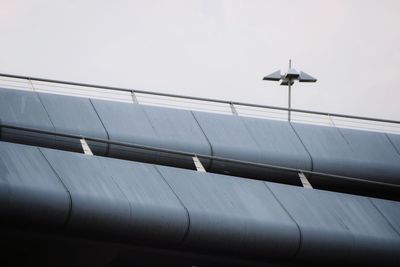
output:
[[37,147],[0,142],[0,220],[63,227],[70,198]]

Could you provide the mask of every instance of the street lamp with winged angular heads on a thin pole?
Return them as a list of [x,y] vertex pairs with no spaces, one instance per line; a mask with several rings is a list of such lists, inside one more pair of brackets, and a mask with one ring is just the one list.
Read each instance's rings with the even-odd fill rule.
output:
[[289,89],[289,99],[288,99],[288,120],[290,121],[290,108],[291,108],[291,87],[294,84],[294,81],[304,82],[304,83],[315,83],[317,79],[308,75],[307,73],[292,68],[292,60],[289,59],[289,69],[288,71],[281,75],[281,71],[277,70],[270,75],[267,75],[263,78],[266,81],[281,81],[280,85],[287,85]]

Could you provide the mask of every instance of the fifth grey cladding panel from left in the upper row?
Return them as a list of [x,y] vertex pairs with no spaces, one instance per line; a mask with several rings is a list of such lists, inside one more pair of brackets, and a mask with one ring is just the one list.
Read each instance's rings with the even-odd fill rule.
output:
[[[258,144],[238,116],[197,111],[193,114],[210,141],[214,156],[262,162]],[[211,163],[211,170],[233,175],[254,174],[254,168],[217,161]]]

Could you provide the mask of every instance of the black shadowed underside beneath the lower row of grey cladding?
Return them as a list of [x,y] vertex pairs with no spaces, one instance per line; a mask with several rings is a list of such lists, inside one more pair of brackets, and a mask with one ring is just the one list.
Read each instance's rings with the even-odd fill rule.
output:
[[0,236],[1,266],[314,266],[310,262],[277,262],[237,253],[123,244],[7,226],[0,226]]

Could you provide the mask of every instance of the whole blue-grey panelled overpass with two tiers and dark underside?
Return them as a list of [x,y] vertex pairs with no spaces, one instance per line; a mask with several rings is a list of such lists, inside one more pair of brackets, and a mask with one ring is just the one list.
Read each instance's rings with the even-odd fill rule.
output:
[[10,265],[400,262],[393,128],[241,116],[245,103],[231,101],[223,104],[233,114],[144,105],[132,90],[132,103],[45,93],[39,82],[90,85],[3,77],[35,89],[0,89],[1,246]]

